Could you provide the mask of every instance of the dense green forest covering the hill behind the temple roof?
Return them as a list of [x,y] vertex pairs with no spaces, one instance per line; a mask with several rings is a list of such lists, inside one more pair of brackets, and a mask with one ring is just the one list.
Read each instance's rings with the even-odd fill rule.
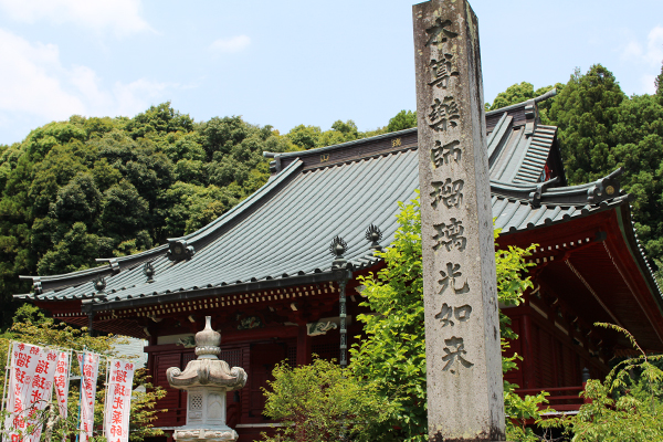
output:
[[[624,167],[634,219],[648,256],[663,260],[663,71],[656,94],[627,96],[601,65],[566,84],[535,90],[522,82],[486,109],[557,88],[539,103],[544,124],[559,127],[566,175],[582,183]],[[269,178],[264,150],[323,147],[417,125],[401,110],[362,133],[352,120],[330,129],[298,125],[287,134],[240,116],[194,122],[170,103],[128,117],[72,116],[0,145],[0,326],[11,324],[12,294],[31,290],[18,275],[67,273],[96,257],[136,253],[190,233],[221,215]],[[657,265],[660,266],[660,265]]]

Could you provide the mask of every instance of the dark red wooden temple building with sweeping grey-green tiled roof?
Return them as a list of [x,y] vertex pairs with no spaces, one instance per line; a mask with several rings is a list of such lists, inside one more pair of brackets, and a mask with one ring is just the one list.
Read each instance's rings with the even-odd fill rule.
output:
[[[547,94],[549,95],[549,94]],[[540,123],[547,96],[486,114],[491,191],[499,248],[538,244],[528,257],[534,288],[505,308],[524,357],[507,375],[522,391],[551,392],[550,404],[577,410],[585,376],[601,378],[631,348],[596,322],[630,330],[646,350],[663,350],[663,301],[631,220],[620,171],[567,186],[557,128]],[[339,278],[329,245],[347,243],[348,345],[361,334],[360,275],[398,228],[399,201],[419,187],[417,129],[273,157],[270,180],[235,208],[182,238],[63,275],[29,276],[17,295],[54,318],[103,333],[148,339],[148,369],[168,390],[158,427],[186,422],[186,391],[170,388],[169,367],[194,359],[193,334],[212,317],[221,355],[248,373],[228,393],[228,423],[240,441],[257,440],[271,421],[261,391],[275,364],[339,358]],[[453,155],[450,152],[449,155]],[[432,158],[444,160],[444,158]],[[450,189],[453,192],[453,189]],[[439,203],[443,203],[440,200]],[[371,239],[367,230],[379,234]],[[376,241],[377,240],[377,241]],[[345,281],[344,281],[345,282]],[[587,370],[585,370],[587,369]]]

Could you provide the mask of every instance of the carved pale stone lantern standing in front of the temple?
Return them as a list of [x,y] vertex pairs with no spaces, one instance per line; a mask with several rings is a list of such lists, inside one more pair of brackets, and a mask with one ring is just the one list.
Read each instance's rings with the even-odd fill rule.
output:
[[206,317],[202,332],[196,334],[196,356],[182,372],[178,367],[166,370],[170,387],[187,390],[187,424],[175,430],[177,441],[235,441],[238,433],[225,424],[225,393],[246,385],[246,372],[219,359],[221,334]]

